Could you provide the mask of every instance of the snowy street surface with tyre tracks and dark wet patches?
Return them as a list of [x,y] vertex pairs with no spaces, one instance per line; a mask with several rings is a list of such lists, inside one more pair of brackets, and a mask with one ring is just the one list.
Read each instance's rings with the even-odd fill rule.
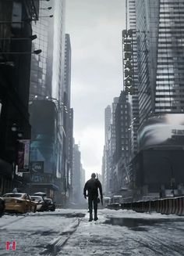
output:
[[[99,210],[61,209],[0,218],[0,255],[184,255],[184,217]],[[6,251],[7,241],[16,251]]]

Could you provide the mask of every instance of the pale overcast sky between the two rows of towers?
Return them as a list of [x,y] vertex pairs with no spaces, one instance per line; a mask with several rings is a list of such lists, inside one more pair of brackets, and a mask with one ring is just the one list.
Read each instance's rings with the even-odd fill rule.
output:
[[104,108],[122,90],[125,0],[66,0],[65,32],[72,45],[74,137],[86,178],[101,173]]

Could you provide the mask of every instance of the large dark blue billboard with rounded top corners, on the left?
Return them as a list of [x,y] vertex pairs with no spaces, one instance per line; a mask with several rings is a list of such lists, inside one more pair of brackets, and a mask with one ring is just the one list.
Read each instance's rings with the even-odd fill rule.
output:
[[57,166],[57,111],[49,100],[34,100],[30,105],[32,127],[30,161],[44,162],[44,173],[54,174]]

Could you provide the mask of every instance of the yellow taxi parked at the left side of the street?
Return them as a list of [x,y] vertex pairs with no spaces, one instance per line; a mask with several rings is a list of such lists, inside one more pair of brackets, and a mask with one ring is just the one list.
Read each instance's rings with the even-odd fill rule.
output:
[[27,193],[6,193],[2,198],[5,200],[5,211],[27,213],[37,210],[37,204]]

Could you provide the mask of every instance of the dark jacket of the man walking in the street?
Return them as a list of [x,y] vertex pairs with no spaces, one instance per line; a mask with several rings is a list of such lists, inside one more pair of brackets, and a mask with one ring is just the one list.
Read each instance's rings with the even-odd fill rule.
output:
[[101,197],[103,197],[101,182],[97,178],[90,178],[86,182],[86,184],[83,188],[84,197],[90,197],[90,198],[98,197],[97,189],[100,190]]

